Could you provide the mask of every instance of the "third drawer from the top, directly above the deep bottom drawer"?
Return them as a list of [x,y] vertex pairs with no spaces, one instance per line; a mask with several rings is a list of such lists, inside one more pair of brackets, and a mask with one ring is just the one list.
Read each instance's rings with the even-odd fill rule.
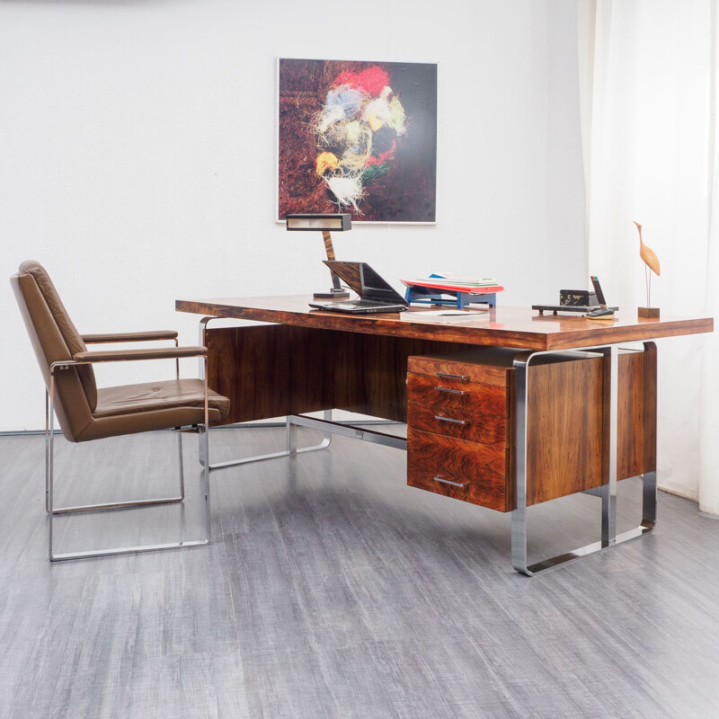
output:
[[407,424],[413,430],[466,439],[480,444],[505,444],[507,418],[469,413],[456,407],[431,406],[410,402]]

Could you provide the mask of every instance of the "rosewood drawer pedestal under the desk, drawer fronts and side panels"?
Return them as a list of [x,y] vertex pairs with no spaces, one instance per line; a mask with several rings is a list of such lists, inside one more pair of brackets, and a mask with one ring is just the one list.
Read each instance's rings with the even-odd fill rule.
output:
[[[493,510],[514,509],[516,351],[410,357],[407,483]],[[529,370],[528,504],[603,484],[603,359],[557,353]],[[620,479],[655,469],[651,352],[619,355]]]

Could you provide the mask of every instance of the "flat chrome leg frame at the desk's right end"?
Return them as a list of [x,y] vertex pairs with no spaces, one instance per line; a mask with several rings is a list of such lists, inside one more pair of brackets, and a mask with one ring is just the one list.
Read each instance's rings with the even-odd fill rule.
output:
[[[644,349],[654,349],[653,342],[644,342]],[[638,527],[617,536],[617,423],[618,423],[618,351],[619,345],[585,348],[581,351],[600,352],[604,355],[604,377],[608,379],[608,406],[603,408],[605,431],[608,431],[607,483],[596,491],[587,493],[601,497],[601,539],[599,542],[581,546],[563,555],[545,559],[536,564],[527,560],[527,410],[528,368],[531,361],[548,351],[522,352],[515,359],[515,438],[516,457],[516,508],[511,512],[511,560],[517,572],[532,576],[546,569],[564,564],[580,556],[586,556],[617,546],[629,539],[648,534],[656,526],[657,476],[656,471],[645,472],[642,494],[642,521]]]

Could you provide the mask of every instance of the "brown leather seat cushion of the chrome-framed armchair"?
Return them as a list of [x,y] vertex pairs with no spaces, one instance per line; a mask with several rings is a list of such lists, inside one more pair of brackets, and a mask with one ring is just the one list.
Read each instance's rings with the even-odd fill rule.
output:
[[[203,404],[201,379],[169,379],[140,385],[99,387],[93,417],[102,419],[149,410],[202,407]],[[208,389],[208,404],[223,419],[230,411],[229,399],[211,389]]]

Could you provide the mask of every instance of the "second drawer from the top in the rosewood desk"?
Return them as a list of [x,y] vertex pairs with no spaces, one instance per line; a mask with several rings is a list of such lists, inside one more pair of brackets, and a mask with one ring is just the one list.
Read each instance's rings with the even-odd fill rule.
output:
[[506,386],[478,385],[462,379],[410,373],[407,400],[434,407],[456,407],[468,413],[509,416]]

